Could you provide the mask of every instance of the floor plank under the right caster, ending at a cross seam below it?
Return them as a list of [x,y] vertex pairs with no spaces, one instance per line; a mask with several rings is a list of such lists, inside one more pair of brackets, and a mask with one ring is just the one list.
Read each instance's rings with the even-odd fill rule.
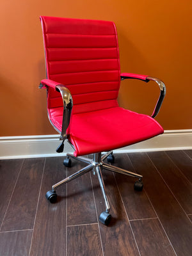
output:
[[[115,154],[114,156],[115,163],[113,165],[131,172],[136,172],[127,154]],[[157,217],[152,205],[148,200],[145,189],[143,189],[143,191],[134,190],[134,182],[138,179],[119,173],[115,173],[115,178],[122,196],[122,200],[124,201],[129,220]]]

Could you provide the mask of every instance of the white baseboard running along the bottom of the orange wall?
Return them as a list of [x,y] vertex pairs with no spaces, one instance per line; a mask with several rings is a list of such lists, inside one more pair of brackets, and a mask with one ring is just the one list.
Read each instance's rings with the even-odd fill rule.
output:
[[[56,153],[60,144],[59,135],[0,137],[0,159],[65,156],[74,150],[66,142],[63,153]],[[166,130],[164,134],[129,147],[114,150],[114,153],[147,152],[161,150],[192,149],[192,129]]]

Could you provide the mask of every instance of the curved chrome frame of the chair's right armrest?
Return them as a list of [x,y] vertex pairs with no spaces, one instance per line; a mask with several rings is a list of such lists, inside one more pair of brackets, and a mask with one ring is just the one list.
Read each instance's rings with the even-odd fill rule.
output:
[[157,116],[157,114],[159,113],[159,110],[160,110],[161,105],[163,103],[164,96],[166,94],[166,87],[165,87],[163,81],[161,81],[160,79],[158,79],[156,77],[148,76],[147,79],[149,81],[155,81],[159,85],[159,89],[160,89],[159,99],[157,100],[156,107],[154,108],[154,111],[151,115],[152,118],[155,118]]

